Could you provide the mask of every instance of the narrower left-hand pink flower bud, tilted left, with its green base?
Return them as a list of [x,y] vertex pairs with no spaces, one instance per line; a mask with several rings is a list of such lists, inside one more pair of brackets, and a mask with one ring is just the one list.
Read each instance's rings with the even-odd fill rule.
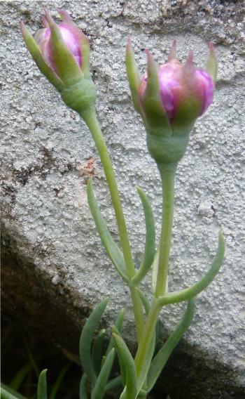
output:
[[57,25],[45,12],[44,28],[34,37],[21,22],[22,35],[39,70],[61,93],[66,105],[83,112],[96,98],[90,76],[90,46],[69,14],[61,10],[59,15],[62,22]]

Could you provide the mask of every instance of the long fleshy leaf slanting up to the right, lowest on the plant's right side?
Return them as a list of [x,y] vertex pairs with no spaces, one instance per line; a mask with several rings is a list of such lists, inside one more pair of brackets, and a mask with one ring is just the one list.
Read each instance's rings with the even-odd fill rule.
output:
[[151,367],[149,368],[147,376],[148,392],[150,392],[155,385],[155,382],[162,372],[162,369],[165,367],[169,356],[171,355],[172,351],[174,351],[174,348],[190,326],[190,323],[193,320],[194,312],[195,301],[194,299],[190,299],[190,301],[188,301],[186,313],[183,315],[183,319],[179,325],[177,325],[174,332],[172,332],[172,334],[169,336],[169,339],[167,339],[166,343],[162,346],[158,354],[155,355],[155,358],[153,358],[153,361],[151,362]]

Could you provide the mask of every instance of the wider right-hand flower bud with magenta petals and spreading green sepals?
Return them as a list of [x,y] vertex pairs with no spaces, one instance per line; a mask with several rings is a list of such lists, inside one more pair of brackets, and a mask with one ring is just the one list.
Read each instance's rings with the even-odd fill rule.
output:
[[193,52],[185,64],[176,59],[176,41],[165,65],[158,66],[149,51],[148,71],[142,79],[127,44],[127,74],[134,107],[146,125],[148,150],[158,163],[176,163],[183,157],[190,130],[213,101],[217,72],[210,45],[207,70],[195,68]]

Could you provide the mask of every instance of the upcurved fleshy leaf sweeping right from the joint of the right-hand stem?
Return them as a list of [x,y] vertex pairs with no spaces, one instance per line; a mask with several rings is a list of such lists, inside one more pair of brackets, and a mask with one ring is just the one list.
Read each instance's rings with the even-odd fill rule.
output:
[[186,289],[181,289],[181,291],[171,292],[165,296],[160,296],[158,298],[158,303],[160,306],[168,305],[169,303],[178,303],[182,301],[188,301],[188,299],[197,296],[202,292],[216,277],[218,270],[220,270],[223,258],[225,254],[225,240],[223,233],[220,230],[218,234],[218,249],[211,268],[209,271],[201,278],[199,282],[196,282],[191,287]]

